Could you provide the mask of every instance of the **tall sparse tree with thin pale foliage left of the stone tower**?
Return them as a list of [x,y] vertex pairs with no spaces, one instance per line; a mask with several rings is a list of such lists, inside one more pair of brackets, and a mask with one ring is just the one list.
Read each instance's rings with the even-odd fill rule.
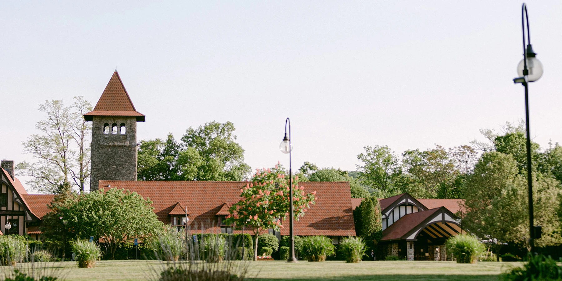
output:
[[20,175],[33,178],[26,183],[35,191],[53,193],[70,181],[84,191],[90,175],[88,142],[92,125],[82,115],[91,110],[92,104],[84,97],[74,97],[71,106],[54,99],[39,105],[39,111],[47,115],[35,125],[41,134],[33,134],[22,143],[24,152],[37,162],[24,161],[16,166]]

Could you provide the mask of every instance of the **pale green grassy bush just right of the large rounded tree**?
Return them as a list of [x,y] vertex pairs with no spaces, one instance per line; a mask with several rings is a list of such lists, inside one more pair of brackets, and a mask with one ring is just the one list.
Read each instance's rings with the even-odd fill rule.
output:
[[153,242],[155,254],[165,261],[178,261],[185,250],[185,236],[175,227],[169,226]]

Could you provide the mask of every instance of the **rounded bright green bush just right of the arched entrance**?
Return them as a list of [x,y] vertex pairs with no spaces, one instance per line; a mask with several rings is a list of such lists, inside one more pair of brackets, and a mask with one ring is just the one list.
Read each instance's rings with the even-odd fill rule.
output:
[[471,234],[459,234],[445,243],[447,253],[452,253],[459,264],[474,264],[484,252],[484,244]]

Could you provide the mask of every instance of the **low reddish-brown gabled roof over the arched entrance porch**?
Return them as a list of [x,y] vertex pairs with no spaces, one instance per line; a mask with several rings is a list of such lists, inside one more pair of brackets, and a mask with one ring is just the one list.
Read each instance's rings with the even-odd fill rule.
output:
[[[437,207],[407,214],[384,229],[383,237],[380,238],[380,241],[408,239],[413,233],[425,228],[433,219],[437,218],[437,221],[445,221],[445,217],[453,220],[457,219],[457,217],[445,207]],[[452,220],[448,220],[447,223],[457,224],[456,221]]]

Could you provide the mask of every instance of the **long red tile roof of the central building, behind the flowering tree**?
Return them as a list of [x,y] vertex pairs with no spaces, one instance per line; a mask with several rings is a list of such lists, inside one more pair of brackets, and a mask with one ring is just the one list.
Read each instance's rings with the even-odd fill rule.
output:
[[[108,184],[149,198],[158,219],[164,223],[170,223],[168,214],[179,201],[189,209],[191,229],[200,229],[203,224],[206,232],[220,233],[215,214],[223,209],[225,202],[238,202],[240,188],[246,182],[100,180],[99,188],[106,188]],[[305,216],[294,222],[295,235],[355,236],[349,183],[302,182],[300,185],[305,188],[305,192],[316,191],[318,200]],[[288,235],[289,224],[285,222],[283,225],[281,234]]]

